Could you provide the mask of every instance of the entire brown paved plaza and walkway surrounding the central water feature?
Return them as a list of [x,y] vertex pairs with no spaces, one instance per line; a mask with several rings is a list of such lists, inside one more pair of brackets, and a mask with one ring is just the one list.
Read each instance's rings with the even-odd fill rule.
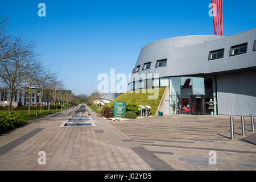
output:
[[[256,170],[255,138],[245,117],[164,115],[106,121],[87,108],[93,126],[63,126],[79,107],[29,121],[0,135],[1,170]],[[87,114],[87,113],[86,113]],[[46,164],[38,164],[38,152]],[[217,164],[209,164],[209,152]]]

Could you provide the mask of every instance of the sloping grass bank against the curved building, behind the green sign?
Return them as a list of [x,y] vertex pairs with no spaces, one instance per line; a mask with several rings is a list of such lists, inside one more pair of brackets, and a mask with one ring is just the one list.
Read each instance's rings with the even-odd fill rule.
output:
[[[156,109],[158,109],[158,105],[160,104],[160,101],[163,97],[164,90],[166,88],[159,88],[156,89],[142,89],[142,90],[136,90],[131,93],[126,92],[115,98],[113,101],[109,102],[107,104],[108,106],[114,107],[114,102],[126,102],[126,104],[136,104],[136,105],[150,105],[152,107],[151,114],[155,114]],[[153,96],[154,93],[157,93],[158,91],[158,97],[155,97],[155,99],[150,99],[148,96]],[[139,92],[139,93],[137,93]],[[146,93],[144,93],[146,92]],[[155,94],[157,96],[157,94]]]

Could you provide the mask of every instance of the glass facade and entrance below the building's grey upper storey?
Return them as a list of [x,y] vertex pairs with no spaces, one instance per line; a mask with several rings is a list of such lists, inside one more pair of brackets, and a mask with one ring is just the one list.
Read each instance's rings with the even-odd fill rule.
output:
[[[151,80],[150,80],[151,81]],[[131,82],[131,90],[147,88],[148,81]],[[170,86],[171,114],[217,115],[215,76],[179,76],[152,78],[152,87]]]

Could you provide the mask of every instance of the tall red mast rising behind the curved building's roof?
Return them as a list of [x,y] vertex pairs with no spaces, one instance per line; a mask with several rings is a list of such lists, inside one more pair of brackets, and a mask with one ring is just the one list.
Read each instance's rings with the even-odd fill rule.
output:
[[212,0],[214,35],[223,36],[222,0]]

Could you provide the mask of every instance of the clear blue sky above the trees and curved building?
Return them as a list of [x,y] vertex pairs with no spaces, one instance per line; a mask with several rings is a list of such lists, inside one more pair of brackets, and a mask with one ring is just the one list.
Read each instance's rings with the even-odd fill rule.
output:
[[[46,17],[38,4],[46,4]],[[48,1],[0,2],[9,30],[38,42],[45,64],[59,72],[75,94],[96,91],[97,75],[128,75],[141,48],[156,40],[183,35],[213,35],[210,0],[196,1]],[[223,0],[224,36],[255,28],[255,0]]]

